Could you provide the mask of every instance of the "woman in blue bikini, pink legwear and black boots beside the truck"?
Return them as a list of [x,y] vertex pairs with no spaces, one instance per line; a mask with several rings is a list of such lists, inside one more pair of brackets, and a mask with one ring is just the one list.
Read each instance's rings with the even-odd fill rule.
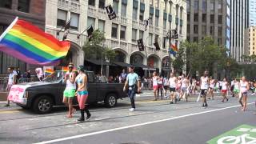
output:
[[75,78],[75,82],[78,84],[78,89],[76,94],[78,96],[78,105],[81,112],[81,117],[78,118],[77,122],[85,121],[85,111],[87,114],[86,120],[90,118],[90,112],[85,106],[86,100],[88,98],[88,90],[87,90],[87,75],[85,73],[84,66],[78,66],[78,76]]

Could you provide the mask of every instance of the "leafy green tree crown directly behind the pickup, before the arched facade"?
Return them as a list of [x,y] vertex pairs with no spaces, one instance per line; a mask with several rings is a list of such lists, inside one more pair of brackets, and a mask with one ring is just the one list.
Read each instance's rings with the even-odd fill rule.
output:
[[87,40],[85,45],[82,46],[82,50],[84,51],[86,58],[94,58],[94,59],[101,59],[105,58],[109,59],[110,61],[114,59],[115,52],[111,50],[109,47],[104,45],[104,33],[100,30],[94,30],[90,42]]

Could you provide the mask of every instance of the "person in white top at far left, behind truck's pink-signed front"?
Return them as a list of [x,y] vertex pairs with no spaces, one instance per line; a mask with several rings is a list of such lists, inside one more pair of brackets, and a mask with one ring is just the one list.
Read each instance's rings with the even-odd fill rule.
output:
[[[8,83],[6,86],[6,91],[9,93],[11,86],[17,84],[17,75],[18,74],[16,73],[16,71],[14,71],[14,67],[9,67],[8,72],[9,72],[9,78],[8,78]],[[9,106],[10,106],[10,101],[7,98],[6,107],[9,107]]]

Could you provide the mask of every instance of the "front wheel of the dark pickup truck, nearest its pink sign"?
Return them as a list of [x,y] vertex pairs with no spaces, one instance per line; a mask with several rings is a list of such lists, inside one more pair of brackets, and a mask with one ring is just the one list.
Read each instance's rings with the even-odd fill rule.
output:
[[42,95],[34,100],[33,110],[38,114],[47,114],[53,108],[53,99],[49,96]]

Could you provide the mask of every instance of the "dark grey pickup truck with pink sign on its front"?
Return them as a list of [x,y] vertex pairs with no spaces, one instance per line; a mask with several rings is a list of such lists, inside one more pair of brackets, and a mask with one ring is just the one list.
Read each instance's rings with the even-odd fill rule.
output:
[[[117,105],[118,98],[125,98],[122,83],[96,82],[94,72],[86,71],[88,76],[87,89],[89,96],[87,103],[104,102],[108,107]],[[63,106],[62,98],[66,84],[62,82],[63,72],[55,71],[42,82],[27,82],[11,87],[9,98],[26,109],[32,109],[38,114],[50,113],[53,106]],[[74,98],[74,104],[77,104]]]

